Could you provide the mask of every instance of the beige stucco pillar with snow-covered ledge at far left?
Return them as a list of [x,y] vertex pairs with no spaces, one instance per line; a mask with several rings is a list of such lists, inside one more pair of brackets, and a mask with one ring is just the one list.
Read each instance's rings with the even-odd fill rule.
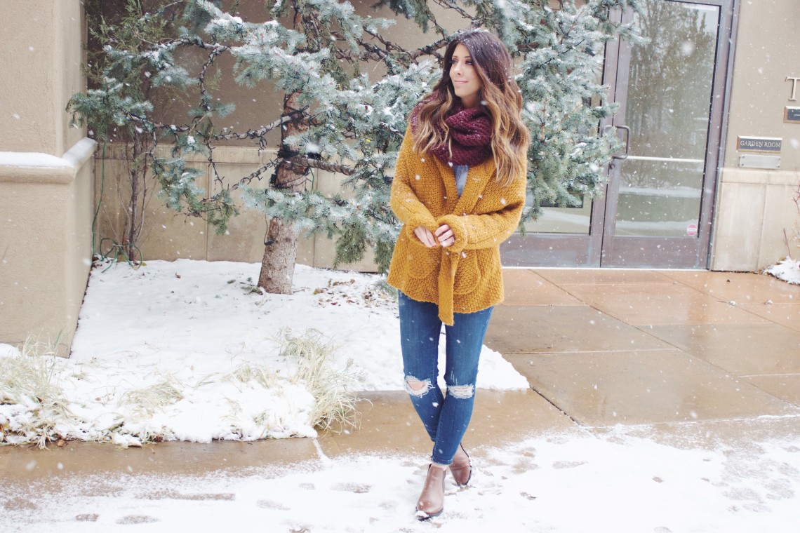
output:
[[70,126],[84,87],[79,0],[3,2],[0,342],[66,353],[91,257],[94,141]]

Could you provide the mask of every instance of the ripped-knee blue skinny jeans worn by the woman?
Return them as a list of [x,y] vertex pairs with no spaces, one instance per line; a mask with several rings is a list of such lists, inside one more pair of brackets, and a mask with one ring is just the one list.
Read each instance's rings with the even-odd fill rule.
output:
[[430,440],[434,441],[431,461],[449,465],[472,417],[478,358],[492,308],[457,312],[453,325],[445,326],[446,396],[438,387],[438,347],[442,331],[438,306],[412,300],[401,292],[399,310],[406,391]]

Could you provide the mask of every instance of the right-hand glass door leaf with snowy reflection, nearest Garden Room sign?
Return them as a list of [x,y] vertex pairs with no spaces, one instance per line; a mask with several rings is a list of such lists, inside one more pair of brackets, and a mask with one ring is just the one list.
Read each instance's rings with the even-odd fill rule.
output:
[[706,178],[714,181],[718,152],[718,133],[710,142],[710,131],[722,6],[640,5],[626,18],[647,42],[621,43],[618,52],[621,108],[614,125],[626,127],[628,149],[610,166],[601,265],[704,268],[710,235],[704,210],[711,207],[704,190]]

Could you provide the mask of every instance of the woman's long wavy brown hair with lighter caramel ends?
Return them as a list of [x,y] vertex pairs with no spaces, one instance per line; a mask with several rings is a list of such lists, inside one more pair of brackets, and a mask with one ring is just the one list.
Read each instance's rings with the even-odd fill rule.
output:
[[518,177],[525,179],[530,132],[522,122],[522,95],[511,73],[511,56],[506,46],[486,30],[458,34],[447,46],[442,79],[419,104],[414,150],[425,153],[434,146],[450,143],[450,128],[445,119],[461,100],[450,80],[450,62],[458,45],[469,50],[481,82],[478,101],[492,123],[491,147],[498,182],[508,185]]

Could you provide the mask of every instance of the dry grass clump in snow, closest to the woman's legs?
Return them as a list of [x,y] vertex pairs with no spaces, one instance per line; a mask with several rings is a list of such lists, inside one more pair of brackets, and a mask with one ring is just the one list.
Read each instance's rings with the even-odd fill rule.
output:
[[305,385],[314,396],[311,412],[314,427],[334,432],[357,428],[358,396],[350,385],[359,375],[353,361],[347,360],[342,369],[335,368],[332,358],[337,347],[316,329],[308,329],[302,336],[292,336],[290,329],[282,329],[275,340],[281,355],[296,361],[297,368],[290,381]]

